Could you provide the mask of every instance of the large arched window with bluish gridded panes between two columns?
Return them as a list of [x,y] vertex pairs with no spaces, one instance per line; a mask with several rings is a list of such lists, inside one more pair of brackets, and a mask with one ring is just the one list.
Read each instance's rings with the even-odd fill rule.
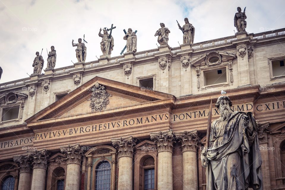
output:
[[95,190],[110,190],[111,165],[108,161],[99,162],[95,169]]

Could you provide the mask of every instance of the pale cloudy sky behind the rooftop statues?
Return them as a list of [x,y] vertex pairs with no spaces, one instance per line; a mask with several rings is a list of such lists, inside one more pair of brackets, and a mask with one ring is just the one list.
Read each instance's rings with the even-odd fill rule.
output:
[[112,57],[125,46],[123,29],[138,31],[138,52],[157,48],[154,34],[161,22],[170,29],[169,45],[178,47],[183,34],[176,20],[182,26],[185,17],[195,27],[194,43],[231,36],[236,8],[245,6],[248,33],[285,27],[281,0],[0,0],[0,83],[28,77],[35,53],[42,48],[46,68],[52,45],[57,53],[55,68],[72,65],[71,61],[77,62],[72,39],[77,42],[83,34],[88,42],[86,62],[97,60],[102,54],[99,29],[111,24],[116,26]]

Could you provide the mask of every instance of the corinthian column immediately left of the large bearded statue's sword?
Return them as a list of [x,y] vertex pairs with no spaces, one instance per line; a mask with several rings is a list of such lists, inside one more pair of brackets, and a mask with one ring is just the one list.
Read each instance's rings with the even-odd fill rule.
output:
[[181,143],[183,157],[183,190],[198,190],[197,176],[197,144],[199,136],[197,130],[175,133]]

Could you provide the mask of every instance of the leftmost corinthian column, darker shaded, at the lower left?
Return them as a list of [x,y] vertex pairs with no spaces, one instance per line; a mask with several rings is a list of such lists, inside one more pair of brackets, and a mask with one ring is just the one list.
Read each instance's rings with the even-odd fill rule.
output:
[[30,189],[31,185],[31,157],[20,155],[14,157],[14,162],[20,166],[18,190]]

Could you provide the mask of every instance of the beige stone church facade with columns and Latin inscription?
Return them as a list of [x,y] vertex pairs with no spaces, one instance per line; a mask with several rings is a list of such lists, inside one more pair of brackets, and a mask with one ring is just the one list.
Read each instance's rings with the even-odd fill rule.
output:
[[91,190],[104,170],[112,190],[150,176],[151,189],[204,190],[208,108],[223,90],[258,120],[264,189],[285,189],[284,45],[285,29],[240,32],[0,84],[0,185]]

